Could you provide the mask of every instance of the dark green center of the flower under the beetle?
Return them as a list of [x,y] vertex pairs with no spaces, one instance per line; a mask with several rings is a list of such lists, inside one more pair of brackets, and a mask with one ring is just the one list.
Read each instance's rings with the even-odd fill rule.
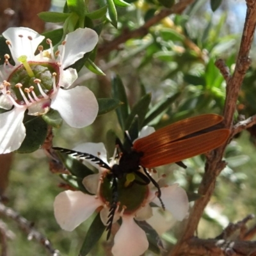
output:
[[[139,177],[135,177],[135,180],[142,181]],[[135,180],[129,182],[129,186],[126,186],[126,177],[117,180],[116,199],[117,202],[120,203],[120,211],[123,209],[123,207],[125,207],[124,214],[131,214],[132,212],[138,210],[141,206],[145,204],[145,200],[148,197],[148,185],[137,184]],[[111,175],[107,175],[103,179],[103,182],[100,186],[99,195],[101,196],[103,202],[110,202],[111,204],[111,202],[113,201],[114,188],[112,184],[113,182]]]

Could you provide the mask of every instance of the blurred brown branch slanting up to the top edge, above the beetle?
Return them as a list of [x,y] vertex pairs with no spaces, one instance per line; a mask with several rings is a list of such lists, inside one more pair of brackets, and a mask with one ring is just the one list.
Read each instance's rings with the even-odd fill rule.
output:
[[168,15],[172,13],[182,13],[183,10],[191,3],[193,3],[195,0],[180,0],[179,3],[174,4],[172,8],[170,9],[164,9],[161,10],[157,15],[149,19],[143,26],[141,26],[138,29],[135,29],[133,31],[124,31],[120,36],[115,38],[111,42],[104,42],[104,44],[100,45],[97,51],[97,56],[99,58],[102,58],[102,56],[105,56],[109,52],[118,49],[118,47],[121,44],[124,44],[127,42],[127,40],[131,38],[136,38],[139,36],[145,36],[148,33],[148,29],[150,29],[154,24],[157,24],[160,20],[164,19]]

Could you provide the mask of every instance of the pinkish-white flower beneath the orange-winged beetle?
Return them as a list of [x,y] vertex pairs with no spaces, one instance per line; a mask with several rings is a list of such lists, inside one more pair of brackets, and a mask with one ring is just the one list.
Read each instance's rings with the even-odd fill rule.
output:
[[[90,143],[90,147],[88,147],[89,145],[84,143],[83,147],[79,146],[76,150],[88,154],[94,153],[95,155],[95,152],[106,152],[106,149],[102,145],[102,143]],[[100,157],[101,153],[98,156]],[[104,162],[107,163],[106,160]],[[109,164],[109,166],[112,165]],[[61,228],[68,231],[74,230],[74,228],[85,221],[99,207],[101,207],[100,218],[106,225],[109,214],[109,203],[102,198],[104,193],[100,193],[100,186],[102,184],[100,180],[103,179],[102,176],[106,172],[107,170],[105,172],[101,170],[100,174],[88,175],[83,180],[85,188],[96,196],[86,195],[81,191],[63,191],[56,196],[54,201],[54,215]],[[147,220],[152,216],[152,208],[149,203],[154,202],[160,207],[161,203],[156,196],[156,189],[149,191],[150,186],[148,185],[138,186],[143,189],[147,187],[147,189],[144,189],[145,198],[140,202],[137,209],[127,212],[125,209],[129,209],[128,205],[125,205],[127,207],[123,205],[122,209],[119,207],[120,210],[116,209],[113,223],[121,217],[122,225],[118,232],[116,232],[114,238],[112,248],[114,256],[139,256],[148,249],[148,240],[145,231],[134,220]],[[118,191],[118,193],[118,200],[120,200],[120,205],[122,205],[122,200],[120,199],[122,198],[122,195],[120,195],[122,191]],[[137,196],[137,194],[132,195],[131,191],[129,195],[132,198],[136,198]],[[161,188],[161,200],[163,200],[166,210],[170,211],[177,220],[183,220],[188,214],[188,196],[178,184]]]

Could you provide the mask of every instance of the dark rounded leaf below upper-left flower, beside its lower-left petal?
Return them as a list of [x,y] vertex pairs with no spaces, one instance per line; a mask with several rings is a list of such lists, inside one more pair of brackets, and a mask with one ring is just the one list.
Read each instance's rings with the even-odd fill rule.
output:
[[[26,116],[27,117],[27,116]],[[38,150],[45,141],[47,136],[47,124],[41,116],[28,117],[30,120],[24,123],[26,128],[26,137],[17,153],[31,153]]]

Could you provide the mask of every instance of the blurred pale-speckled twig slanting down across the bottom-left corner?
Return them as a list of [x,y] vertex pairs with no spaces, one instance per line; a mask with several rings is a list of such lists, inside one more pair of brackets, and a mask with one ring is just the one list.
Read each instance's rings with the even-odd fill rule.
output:
[[12,208],[6,207],[0,202],[0,214],[6,218],[16,221],[20,229],[28,234],[28,240],[35,239],[38,243],[42,244],[45,249],[51,253],[52,256],[60,256],[60,252],[52,247],[51,242],[47,237],[43,236],[38,230],[33,227],[33,223],[20,216],[19,213],[13,211]]

